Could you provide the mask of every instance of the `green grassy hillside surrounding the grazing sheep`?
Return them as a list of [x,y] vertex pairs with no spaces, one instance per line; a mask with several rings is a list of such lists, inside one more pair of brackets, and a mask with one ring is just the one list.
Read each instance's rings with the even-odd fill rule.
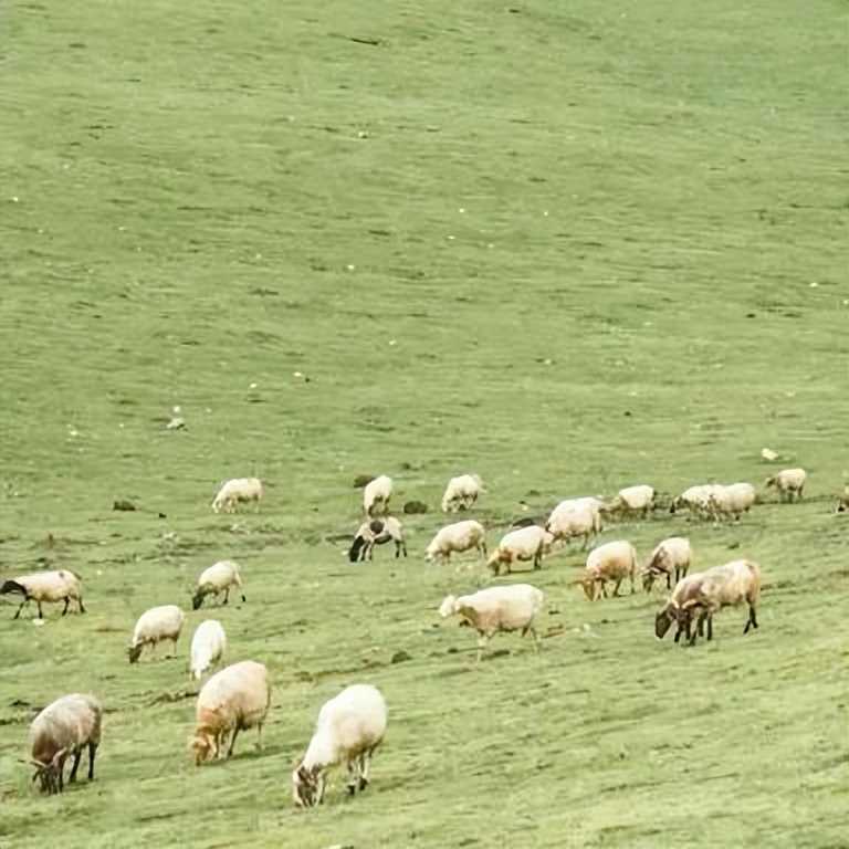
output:
[[[0,608],[4,849],[845,846],[846,24],[766,0],[3,2],[0,565],[74,569],[87,608]],[[778,504],[763,480],[797,464],[806,499]],[[756,560],[759,629],[659,642],[663,593],[589,604],[575,549],[426,566],[467,471],[490,547],[567,496],[751,481],[738,525],[660,510],[602,541]],[[406,560],[342,554],[364,473],[396,515],[430,507],[401,516]],[[248,474],[261,511],[213,515]],[[136,618],[223,558],[248,600],[130,668]],[[522,579],[552,636],[475,665],[439,602]],[[247,732],[198,769],[210,616],[273,709],[264,751]],[[296,811],[317,711],[358,681],[390,709],[371,786],[339,769]],[[42,798],[17,758],[74,691],[106,711],[96,780]]]

